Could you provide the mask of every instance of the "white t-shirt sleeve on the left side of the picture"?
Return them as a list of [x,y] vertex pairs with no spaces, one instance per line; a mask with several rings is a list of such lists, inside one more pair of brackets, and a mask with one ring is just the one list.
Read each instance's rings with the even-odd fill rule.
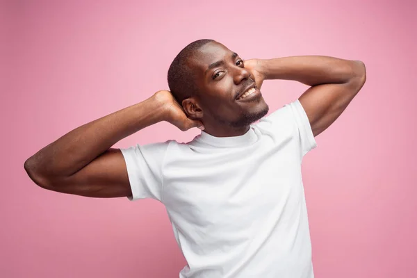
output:
[[129,200],[163,199],[163,161],[170,140],[120,149],[129,175],[132,196]]

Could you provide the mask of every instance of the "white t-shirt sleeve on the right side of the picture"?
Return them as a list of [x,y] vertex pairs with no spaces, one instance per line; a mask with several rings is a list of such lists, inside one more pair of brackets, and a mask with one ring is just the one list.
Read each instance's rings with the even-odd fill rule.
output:
[[295,121],[298,129],[302,156],[305,156],[308,152],[311,151],[311,149],[317,147],[317,142],[314,139],[313,131],[311,130],[306,111],[304,111],[304,108],[298,99],[291,102],[290,104],[286,104],[284,108],[289,108]]

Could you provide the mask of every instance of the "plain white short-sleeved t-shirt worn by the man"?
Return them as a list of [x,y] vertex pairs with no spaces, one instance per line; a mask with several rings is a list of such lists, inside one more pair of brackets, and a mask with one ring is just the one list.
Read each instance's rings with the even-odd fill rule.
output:
[[136,145],[122,149],[129,199],[165,205],[180,278],[313,278],[301,163],[316,146],[298,100],[243,136]]

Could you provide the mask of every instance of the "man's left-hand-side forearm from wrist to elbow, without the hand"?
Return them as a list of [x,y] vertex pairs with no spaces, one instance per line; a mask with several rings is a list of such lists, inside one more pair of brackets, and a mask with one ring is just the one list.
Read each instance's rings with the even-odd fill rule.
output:
[[162,110],[152,96],[79,126],[28,158],[25,169],[42,177],[68,177],[122,138],[163,120]]

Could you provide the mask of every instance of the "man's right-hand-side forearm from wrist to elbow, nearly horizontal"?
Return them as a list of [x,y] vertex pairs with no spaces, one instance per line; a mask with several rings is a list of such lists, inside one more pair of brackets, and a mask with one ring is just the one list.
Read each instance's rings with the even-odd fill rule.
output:
[[360,75],[363,63],[328,56],[292,56],[261,60],[265,79],[294,80],[306,85],[347,83]]

